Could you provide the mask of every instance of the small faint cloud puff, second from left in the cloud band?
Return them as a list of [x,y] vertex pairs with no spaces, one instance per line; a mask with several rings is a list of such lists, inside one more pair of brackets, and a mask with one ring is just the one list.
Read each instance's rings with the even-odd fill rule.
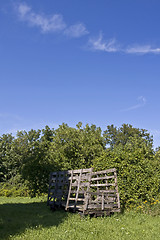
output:
[[70,27],[68,27],[65,31],[64,34],[69,36],[69,37],[74,37],[74,38],[79,38],[83,35],[88,34],[89,32],[87,31],[86,27],[84,26],[83,23],[78,23],[74,24]]

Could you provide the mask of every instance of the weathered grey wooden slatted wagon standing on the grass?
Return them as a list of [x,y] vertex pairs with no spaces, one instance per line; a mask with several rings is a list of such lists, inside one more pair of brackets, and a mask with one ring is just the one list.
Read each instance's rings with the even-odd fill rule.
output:
[[52,172],[47,204],[51,209],[103,216],[120,212],[116,169],[93,168]]

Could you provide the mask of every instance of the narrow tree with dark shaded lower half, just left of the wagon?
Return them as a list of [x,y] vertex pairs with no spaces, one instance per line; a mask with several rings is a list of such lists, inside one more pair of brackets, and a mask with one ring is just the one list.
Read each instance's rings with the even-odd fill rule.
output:
[[23,135],[23,142],[27,143],[27,155],[23,155],[21,174],[22,178],[27,180],[32,195],[47,192],[51,166],[46,154],[52,135],[53,131],[48,126],[42,130],[42,135],[41,130],[33,129]]

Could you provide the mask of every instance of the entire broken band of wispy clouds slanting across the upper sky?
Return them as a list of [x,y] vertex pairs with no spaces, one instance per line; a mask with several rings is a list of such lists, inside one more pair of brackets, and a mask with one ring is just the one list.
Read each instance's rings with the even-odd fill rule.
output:
[[[52,14],[50,16],[44,13],[36,13],[32,7],[25,2],[15,5],[16,13],[21,21],[24,21],[32,27],[38,27],[42,33],[61,33],[70,38],[80,38],[89,34],[83,23],[72,24],[68,26],[63,19],[62,14]],[[89,37],[87,49],[90,51],[101,51],[106,53],[123,54],[160,54],[159,47],[148,45],[128,45],[122,47],[115,38],[104,39],[102,33],[97,37]]]

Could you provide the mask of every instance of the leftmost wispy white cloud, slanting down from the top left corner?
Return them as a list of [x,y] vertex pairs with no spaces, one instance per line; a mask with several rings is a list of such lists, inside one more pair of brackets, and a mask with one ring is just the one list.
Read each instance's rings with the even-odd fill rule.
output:
[[31,26],[40,27],[42,32],[56,32],[65,29],[66,24],[60,14],[45,16],[36,14],[26,3],[20,3],[16,8],[22,21],[28,22]]

